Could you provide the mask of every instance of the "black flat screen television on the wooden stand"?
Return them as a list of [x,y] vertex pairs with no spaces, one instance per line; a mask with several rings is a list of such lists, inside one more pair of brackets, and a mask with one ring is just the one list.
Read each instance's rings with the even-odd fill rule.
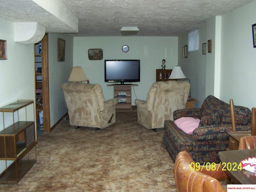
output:
[[105,60],[105,82],[140,82],[140,60]]

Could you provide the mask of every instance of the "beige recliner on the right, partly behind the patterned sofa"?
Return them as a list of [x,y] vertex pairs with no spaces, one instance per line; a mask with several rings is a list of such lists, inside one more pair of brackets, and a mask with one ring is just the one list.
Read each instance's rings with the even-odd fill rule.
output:
[[154,82],[147,100],[135,100],[138,123],[147,129],[163,128],[165,120],[173,120],[173,112],[186,108],[190,83],[187,81]]

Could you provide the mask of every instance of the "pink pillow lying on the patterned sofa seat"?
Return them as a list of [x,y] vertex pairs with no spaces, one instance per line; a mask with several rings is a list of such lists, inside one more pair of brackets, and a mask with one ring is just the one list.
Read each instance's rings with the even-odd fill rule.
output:
[[198,128],[200,119],[193,117],[181,117],[174,121],[174,124],[186,134],[192,134]]

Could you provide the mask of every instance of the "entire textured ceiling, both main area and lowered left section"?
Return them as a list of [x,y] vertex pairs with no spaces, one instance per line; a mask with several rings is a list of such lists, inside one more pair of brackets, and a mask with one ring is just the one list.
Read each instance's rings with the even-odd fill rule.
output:
[[[36,4],[37,1],[40,0],[0,0],[0,17],[14,22],[39,22],[46,32],[74,32],[58,16]],[[178,36],[253,0],[56,1],[77,16],[75,36],[121,36],[122,26],[138,27],[137,36]]]

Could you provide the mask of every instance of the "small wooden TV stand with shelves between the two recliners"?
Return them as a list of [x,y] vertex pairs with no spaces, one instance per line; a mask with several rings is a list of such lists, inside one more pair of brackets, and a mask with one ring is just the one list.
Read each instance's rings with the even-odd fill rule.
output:
[[114,87],[114,98],[118,98],[116,111],[136,111],[132,107],[132,86],[138,86],[137,84],[110,84],[107,86]]

